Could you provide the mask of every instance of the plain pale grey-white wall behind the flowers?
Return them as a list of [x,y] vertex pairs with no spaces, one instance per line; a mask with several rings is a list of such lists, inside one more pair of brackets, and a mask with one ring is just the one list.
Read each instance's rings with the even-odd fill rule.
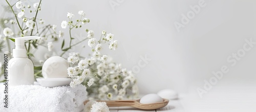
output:
[[[111,1],[118,6],[111,7]],[[3,4],[5,1],[1,1]],[[245,52],[236,65],[227,61],[232,53],[243,49],[245,39],[256,41],[256,1],[205,0],[205,7],[178,32],[175,21],[181,23],[182,14],[193,11],[189,6],[195,5],[199,5],[199,0],[42,1],[38,17],[62,30],[60,23],[68,20],[67,12],[78,16],[77,12],[83,10],[91,21],[74,32],[76,37],[86,37],[85,28],[94,30],[95,37],[102,30],[111,32],[119,41],[119,48],[105,53],[129,70],[138,65],[140,56],[151,58],[137,74],[143,94],[163,88],[187,92],[195,82],[209,80],[214,76],[211,72],[221,70],[222,65],[229,69],[223,79],[256,79],[256,46]],[[63,31],[68,38],[68,30]],[[56,50],[60,47],[54,46]]]

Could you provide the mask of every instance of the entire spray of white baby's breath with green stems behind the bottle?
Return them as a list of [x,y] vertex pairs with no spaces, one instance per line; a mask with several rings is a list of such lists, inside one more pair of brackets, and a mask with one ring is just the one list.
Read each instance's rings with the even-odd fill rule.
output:
[[[121,100],[138,97],[137,80],[132,71],[122,68],[121,64],[114,62],[110,56],[101,53],[105,46],[103,44],[106,44],[111,50],[118,48],[118,41],[114,40],[112,33],[102,31],[101,36],[95,38],[94,31],[86,29],[84,33],[87,33],[88,36],[76,43],[73,42],[76,38],[72,36],[72,31],[90,23],[90,19],[84,17],[84,11],[78,11],[78,19],[75,19],[75,14],[68,13],[67,20],[60,22],[62,29],[69,29],[68,36],[65,36],[65,32],[57,32],[57,25],[46,24],[44,19],[38,18],[37,15],[42,5],[41,0],[32,5],[27,1],[10,3],[6,0],[6,3],[5,13],[12,14],[12,16],[0,18],[0,52],[2,54],[8,54],[11,57],[11,46],[14,44],[14,39],[11,37],[40,36],[40,40],[26,41],[25,47],[27,57],[34,63],[42,64],[49,56],[44,60],[35,60],[34,52],[40,50],[37,48],[44,47],[48,49],[47,52],[52,52],[53,44],[61,42],[61,53],[52,53],[52,55],[59,55],[68,60],[70,63],[68,74],[72,79],[70,86],[85,85],[89,100]],[[79,52],[71,51],[73,47],[84,43],[91,50],[89,57],[80,56]],[[64,57],[64,55],[68,55],[68,57]],[[34,68],[35,78],[42,77],[41,64]],[[3,77],[2,65],[1,62],[0,77]],[[2,78],[2,82],[4,81],[5,79]]]

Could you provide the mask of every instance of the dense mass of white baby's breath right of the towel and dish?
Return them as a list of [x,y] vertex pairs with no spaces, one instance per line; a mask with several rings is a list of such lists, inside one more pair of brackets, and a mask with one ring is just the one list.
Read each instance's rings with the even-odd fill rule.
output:
[[111,61],[108,55],[101,54],[103,43],[109,43],[110,49],[117,49],[118,43],[117,40],[114,40],[114,35],[102,31],[103,38],[101,36],[97,40],[94,38],[94,31],[89,30],[87,33],[88,46],[93,52],[91,57],[84,59],[80,58],[78,53],[70,53],[68,57],[68,62],[71,65],[68,74],[72,78],[70,85],[75,86],[80,83],[86,85],[91,99],[136,98],[138,87],[132,71],[122,69],[121,64]]

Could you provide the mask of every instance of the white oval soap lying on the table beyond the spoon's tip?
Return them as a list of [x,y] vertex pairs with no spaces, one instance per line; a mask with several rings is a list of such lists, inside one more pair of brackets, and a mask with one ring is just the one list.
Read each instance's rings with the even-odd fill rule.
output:
[[178,99],[178,93],[173,89],[162,89],[157,93],[157,95],[168,100]]

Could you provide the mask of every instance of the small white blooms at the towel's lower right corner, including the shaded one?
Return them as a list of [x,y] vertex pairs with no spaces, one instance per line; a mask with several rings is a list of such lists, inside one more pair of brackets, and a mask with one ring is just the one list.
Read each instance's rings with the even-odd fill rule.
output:
[[108,105],[106,105],[106,102],[97,102],[94,100],[90,100],[89,102],[84,105],[83,108],[84,112],[109,112],[110,109]]

